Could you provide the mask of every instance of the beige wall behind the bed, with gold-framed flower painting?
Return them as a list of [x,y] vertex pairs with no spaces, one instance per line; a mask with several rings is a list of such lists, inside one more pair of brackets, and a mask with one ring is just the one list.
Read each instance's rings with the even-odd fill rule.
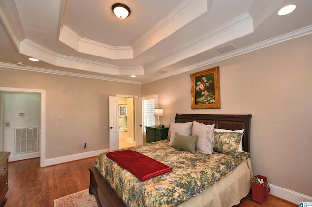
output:
[[[189,74],[215,66],[221,109],[192,110]],[[176,113],[252,114],[254,174],[312,196],[312,35],[142,86],[142,95],[154,93],[165,125]]]

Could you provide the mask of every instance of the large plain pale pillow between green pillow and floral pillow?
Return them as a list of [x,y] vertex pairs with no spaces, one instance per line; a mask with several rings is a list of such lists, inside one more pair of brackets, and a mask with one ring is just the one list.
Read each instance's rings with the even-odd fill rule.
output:
[[214,129],[215,124],[201,124],[197,121],[193,121],[192,136],[197,135],[198,140],[196,144],[196,151],[204,154],[211,154],[214,148]]

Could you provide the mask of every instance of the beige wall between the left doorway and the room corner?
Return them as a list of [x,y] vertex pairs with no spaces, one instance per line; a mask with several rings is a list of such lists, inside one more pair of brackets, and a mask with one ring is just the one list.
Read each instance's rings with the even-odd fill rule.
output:
[[7,68],[0,87],[46,90],[46,159],[108,149],[108,97],[141,96],[138,84]]

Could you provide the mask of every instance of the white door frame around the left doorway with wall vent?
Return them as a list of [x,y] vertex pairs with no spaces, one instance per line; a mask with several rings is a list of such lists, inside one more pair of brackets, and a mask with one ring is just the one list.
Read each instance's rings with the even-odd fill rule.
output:
[[[29,92],[29,93],[40,93],[41,94],[40,167],[45,167],[45,90],[42,90],[42,89],[0,87],[0,91],[3,91],[3,92]],[[1,118],[3,118],[3,117],[1,117]]]

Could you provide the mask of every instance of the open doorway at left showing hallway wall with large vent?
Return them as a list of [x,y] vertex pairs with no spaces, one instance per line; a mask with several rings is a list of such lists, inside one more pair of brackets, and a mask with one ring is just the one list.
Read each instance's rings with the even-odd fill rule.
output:
[[41,94],[0,92],[2,97],[1,151],[9,161],[40,157]]

